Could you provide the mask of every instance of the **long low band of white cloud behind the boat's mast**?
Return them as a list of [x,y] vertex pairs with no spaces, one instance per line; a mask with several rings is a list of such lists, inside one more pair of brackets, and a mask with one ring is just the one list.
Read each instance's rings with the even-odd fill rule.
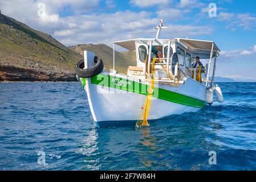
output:
[[[156,35],[153,27],[159,18],[149,18],[151,13],[141,11],[120,11],[112,14],[78,15],[61,18],[61,22],[78,24],[75,27],[63,26],[54,31],[54,37],[71,46],[82,43],[105,43],[132,38],[152,38]],[[210,34],[213,30],[208,26],[184,26],[166,23],[168,28],[162,30],[162,38],[177,36],[196,36]],[[61,30],[60,30],[61,29]]]

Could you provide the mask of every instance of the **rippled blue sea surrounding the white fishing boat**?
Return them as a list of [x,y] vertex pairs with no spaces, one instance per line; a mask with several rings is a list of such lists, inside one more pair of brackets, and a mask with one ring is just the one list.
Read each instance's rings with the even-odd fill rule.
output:
[[256,170],[256,83],[219,85],[221,104],[137,130],[96,127],[79,82],[0,82],[0,170]]

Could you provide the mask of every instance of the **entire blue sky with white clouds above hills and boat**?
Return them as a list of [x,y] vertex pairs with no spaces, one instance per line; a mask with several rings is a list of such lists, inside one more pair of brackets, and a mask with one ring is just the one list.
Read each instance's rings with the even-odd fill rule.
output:
[[161,38],[217,44],[217,76],[256,80],[254,0],[0,0],[0,10],[66,46],[155,38],[163,18]]

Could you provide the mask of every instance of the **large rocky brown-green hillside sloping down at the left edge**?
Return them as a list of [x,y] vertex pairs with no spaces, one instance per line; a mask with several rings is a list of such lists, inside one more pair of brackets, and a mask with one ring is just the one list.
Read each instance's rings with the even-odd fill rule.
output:
[[82,59],[51,35],[0,14],[0,81],[74,81]]

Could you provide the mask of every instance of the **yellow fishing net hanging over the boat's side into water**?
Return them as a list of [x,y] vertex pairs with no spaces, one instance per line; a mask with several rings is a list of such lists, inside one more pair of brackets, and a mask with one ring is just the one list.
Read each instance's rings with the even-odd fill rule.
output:
[[137,120],[136,127],[149,126],[148,115],[149,115],[151,101],[152,101],[153,92],[155,88],[155,62],[156,62],[156,58],[154,58],[152,61],[151,82],[149,83],[147,97],[146,97],[146,100],[144,101],[144,105],[141,107],[141,113],[140,113],[139,119]]

